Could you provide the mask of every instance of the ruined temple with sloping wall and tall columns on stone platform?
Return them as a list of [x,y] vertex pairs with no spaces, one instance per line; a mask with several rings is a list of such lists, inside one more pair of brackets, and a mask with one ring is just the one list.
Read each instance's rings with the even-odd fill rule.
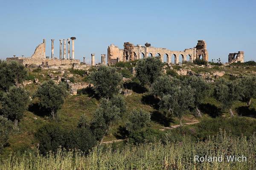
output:
[[[70,39],[67,39],[68,41],[67,57],[66,57],[66,40],[65,39],[60,40],[59,59],[54,57],[54,40],[52,40],[51,58],[45,56],[46,40],[44,39],[43,42],[35,48],[35,52],[34,54],[32,54],[31,57],[16,57],[14,55],[14,57],[6,58],[6,61],[15,60],[17,62],[22,63],[23,65],[42,65],[42,66],[79,64],[80,60],[75,59],[75,53],[74,53],[74,40],[76,40],[76,38],[71,37],[71,40],[72,40],[72,58],[70,57]],[[62,44],[64,44],[63,51],[62,51]],[[62,54],[63,54],[63,57],[62,57]]]

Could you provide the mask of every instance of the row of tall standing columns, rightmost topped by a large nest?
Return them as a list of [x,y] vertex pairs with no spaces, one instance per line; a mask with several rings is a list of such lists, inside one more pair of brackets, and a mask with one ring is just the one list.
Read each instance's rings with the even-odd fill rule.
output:
[[[70,39],[72,40],[72,56],[70,56]],[[66,39],[60,40],[60,59],[75,59],[75,40],[76,37],[71,37]],[[62,42],[63,42],[63,57],[62,57]],[[67,49],[66,49],[66,42],[67,42]],[[67,57],[66,57],[67,52]],[[72,58],[71,58],[72,57]],[[52,39],[52,55],[51,58],[54,59],[54,39]]]

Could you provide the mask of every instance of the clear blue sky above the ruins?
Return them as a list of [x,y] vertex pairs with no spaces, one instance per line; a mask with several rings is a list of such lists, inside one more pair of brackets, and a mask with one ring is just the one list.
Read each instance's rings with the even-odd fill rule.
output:
[[25,55],[46,39],[76,37],[75,57],[107,54],[123,42],[181,51],[205,40],[209,60],[244,51],[256,60],[255,0],[0,0],[0,59]]

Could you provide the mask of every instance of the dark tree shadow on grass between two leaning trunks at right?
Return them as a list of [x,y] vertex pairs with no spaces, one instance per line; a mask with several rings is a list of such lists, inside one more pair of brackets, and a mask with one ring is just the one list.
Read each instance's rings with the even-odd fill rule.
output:
[[216,107],[215,105],[212,104],[205,104],[202,103],[199,105],[199,109],[202,113],[204,114],[208,114],[209,116],[211,116],[212,118],[218,117],[222,115],[222,111],[221,108]]

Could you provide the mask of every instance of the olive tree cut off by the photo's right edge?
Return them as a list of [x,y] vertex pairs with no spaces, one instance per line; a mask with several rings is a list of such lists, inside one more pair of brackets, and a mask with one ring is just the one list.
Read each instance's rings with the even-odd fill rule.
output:
[[256,77],[245,77],[239,80],[241,81],[241,88],[243,88],[242,98],[249,106],[251,103],[251,98],[256,96]]

